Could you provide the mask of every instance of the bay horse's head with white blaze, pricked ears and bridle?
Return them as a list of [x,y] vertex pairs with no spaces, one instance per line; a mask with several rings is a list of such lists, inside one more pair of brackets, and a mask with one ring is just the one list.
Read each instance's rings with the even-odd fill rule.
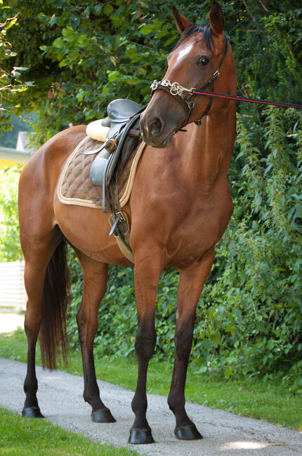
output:
[[[207,96],[191,96],[187,89],[211,91],[217,80],[215,89],[230,93],[236,84],[235,63],[231,51],[227,53],[230,46],[225,39],[224,18],[218,3],[214,1],[211,6],[207,26],[192,25],[176,8],[173,16],[183,36],[168,56],[164,78],[152,84],[153,96],[140,122],[143,140],[153,147],[168,146],[180,128],[211,114],[224,103]],[[219,72],[223,74],[220,78]]]

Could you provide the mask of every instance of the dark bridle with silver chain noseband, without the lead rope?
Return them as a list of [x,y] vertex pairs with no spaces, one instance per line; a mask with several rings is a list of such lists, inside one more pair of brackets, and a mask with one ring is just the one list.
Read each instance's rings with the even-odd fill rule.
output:
[[[195,107],[195,102],[192,101],[192,98],[195,96],[193,91],[194,90],[204,90],[204,89],[210,87],[211,88],[211,92],[214,92],[214,82],[216,81],[216,79],[218,78],[218,76],[220,74],[219,73],[219,69],[220,69],[220,67],[222,65],[222,62],[223,62],[223,60],[225,58],[225,54],[227,53],[227,51],[228,51],[228,39],[227,39],[226,36],[224,36],[224,40],[223,40],[223,55],[221,55],[221,60],[218,63],[218,67],[216,69],[216,72],[214,72],[213,76],[211,76],[209,81],[204,83],[204,85],[199,87],[199,88],[193,88],[193,87],[192,88],[185,88],[183,86],[180,86],[180,84],[178,84],[178,82],[171,83],[169,81],[169,79],[164,79],[163,81],[157,81],[155,79],[155,81],[152,82],[152,84],[150,86],[151,89],[152,89],[151,96],[155,93],[155,90],[159,90],[159,89],[166,90],[166,92],[168,92],[171,95],[173,95],[173,97],[175,97],[176,100],[178,102],[180,102],[180,105],[182,105],[182,107],[187,112],[187,117],[186,117],[183,125],[180,128],[183,128],[184,126],[187,125],[187,123],[188,123],[188,121],[190,119],[190,115],[192,114],[192,110]],[[213,102],[213,97],[210,97],[209,98],[209,103],[208,103],[204,113],[202,114],[202,116],[197,121],[195,121],[195,123],[197,123],[197,125],[200,125],[202,123],[202,118],[204,116],[206,116],[206,114],[208,114],[209,110],[211,109],[212,102]]]

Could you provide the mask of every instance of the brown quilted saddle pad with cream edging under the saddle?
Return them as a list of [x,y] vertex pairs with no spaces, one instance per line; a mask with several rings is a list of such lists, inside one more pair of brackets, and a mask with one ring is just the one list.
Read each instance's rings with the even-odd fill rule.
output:
[[[86,150],[98,149],[100,145],[99,141],[86,136],[74,149],[74,152],[65,163],[58,182],[57,194],[61,203],[102,209],[102,188],[93,185],[89,177],[91,164],[96,156],[95,154],[83,154]],[[121,208],[125,206],[131,195],[136,168],[144,148],[145,142],[140,142],[131,154],[119,178],[118,188]]]

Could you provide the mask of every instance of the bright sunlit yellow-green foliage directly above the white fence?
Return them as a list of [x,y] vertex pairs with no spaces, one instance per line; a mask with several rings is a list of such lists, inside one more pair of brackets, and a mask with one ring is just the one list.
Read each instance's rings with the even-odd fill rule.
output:
[[18,222],[20,168],[0,170],[0,261],[22,258]]

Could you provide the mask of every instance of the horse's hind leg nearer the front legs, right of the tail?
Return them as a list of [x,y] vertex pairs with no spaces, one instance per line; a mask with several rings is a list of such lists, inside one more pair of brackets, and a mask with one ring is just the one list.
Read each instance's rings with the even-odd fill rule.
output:
[[91,260],[77,252],[84,276],[84,290],[81,307],[77,314],[79,341],[84,373],[84,400],[91,405],[91,420],[94,422],[115,422],[110,410],[100,400],[93,359],[93,340],[98,330],[98,307],[107,286],[108,265]]

